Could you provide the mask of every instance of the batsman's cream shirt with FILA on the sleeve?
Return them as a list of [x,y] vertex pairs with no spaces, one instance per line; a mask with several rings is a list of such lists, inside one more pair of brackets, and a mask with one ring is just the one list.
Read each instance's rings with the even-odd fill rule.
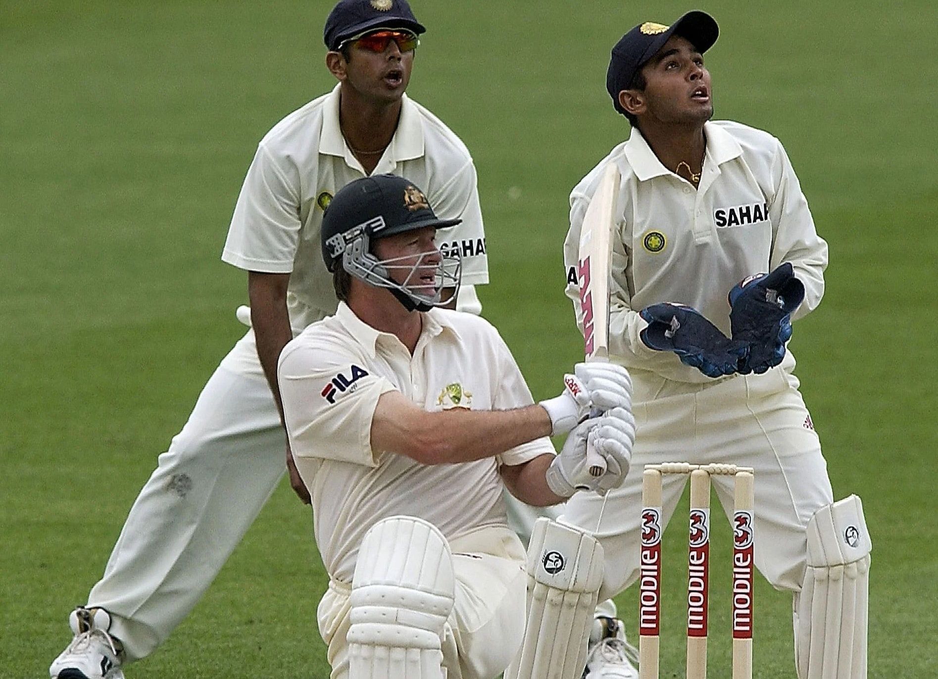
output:
[[507,410],[534,402],[491,324],[448,309],[422,316],[413,356],[396,336],[363,323],[344,303],[280,355],[291,450],[300,475],[311,479],[316,544],[334,580],[352,581],[362,538],[386,517],[420,517],[447,539],[505,525],[498,465],[554,452],[542,438],[497,458],[426,465],[371,448],[378,398],[393,389],[427,411]]

